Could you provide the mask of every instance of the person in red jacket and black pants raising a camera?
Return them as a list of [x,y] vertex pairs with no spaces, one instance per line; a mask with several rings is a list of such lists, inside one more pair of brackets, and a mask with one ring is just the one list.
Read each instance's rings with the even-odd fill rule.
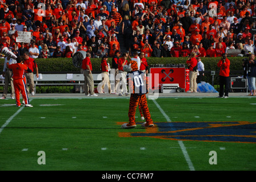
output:
[[[229,98],[229,72],[230,60],[227,59],[227,54],[223,53],[221,60],[217,64],[221,70],[219,71],[219,96],[217,98]],[[225,85],[225,95],[224,95]]]

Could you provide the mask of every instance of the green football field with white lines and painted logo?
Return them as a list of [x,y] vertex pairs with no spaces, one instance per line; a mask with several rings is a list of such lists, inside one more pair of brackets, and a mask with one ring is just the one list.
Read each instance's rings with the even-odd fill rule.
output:
[[129,97],[0,101],[0,170],[254,171],[256,97],[148,100],[155,127],[121,129]]

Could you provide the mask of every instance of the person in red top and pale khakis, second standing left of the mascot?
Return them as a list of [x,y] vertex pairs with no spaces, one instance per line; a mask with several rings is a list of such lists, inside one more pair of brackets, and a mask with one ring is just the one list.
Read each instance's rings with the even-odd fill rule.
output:
[[[103,56],[101,59],[101,76],[102,81],[98,84],[97,90],[99,93],[111,93],[111,85],[109,81],[109,65],[107,64],[107,56]],[[107,88],[105,89],[105,85]]]

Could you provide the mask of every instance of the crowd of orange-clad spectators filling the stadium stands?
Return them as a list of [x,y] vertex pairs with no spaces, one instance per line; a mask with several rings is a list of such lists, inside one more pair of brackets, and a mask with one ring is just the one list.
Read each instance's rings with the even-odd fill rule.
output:
[[[17,56],[113,57],[122,35],[130,56],[255,53],[255,0],[0,1],[0,42]],[[31,32],[30,42],[16,42],[17,31]]]

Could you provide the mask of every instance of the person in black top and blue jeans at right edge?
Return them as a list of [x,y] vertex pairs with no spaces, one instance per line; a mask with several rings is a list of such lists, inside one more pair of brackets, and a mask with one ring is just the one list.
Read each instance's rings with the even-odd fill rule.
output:
[[255,55],[250,54],[248,59],[244,59],[244,62],[242,64],[243,69],[245,71],[244,78],[247,77],[250,94],[248,96],[256,96],[256,87],[255,87],[255,81],[256,81],[256,60]]

